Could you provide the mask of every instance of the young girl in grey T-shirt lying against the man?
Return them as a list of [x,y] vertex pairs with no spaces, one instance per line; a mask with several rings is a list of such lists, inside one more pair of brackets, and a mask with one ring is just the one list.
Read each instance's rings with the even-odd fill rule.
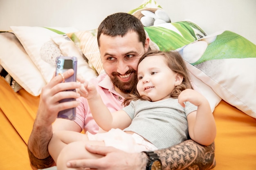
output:
[[87,98],[92,115],[105,131],[87,135],[55,132],[49,153],[64,170],[73,159],[99,158],[85,150],[85,145],[105,145],[126,152],[168,148],[191,137],[210,145],[216,137],[216,125],[205,97],[193,90],[186,65],[175,51],[149,51],[137,67],[137,88],[124,100],[122,110],[110,113],[91,84],[79,89]]

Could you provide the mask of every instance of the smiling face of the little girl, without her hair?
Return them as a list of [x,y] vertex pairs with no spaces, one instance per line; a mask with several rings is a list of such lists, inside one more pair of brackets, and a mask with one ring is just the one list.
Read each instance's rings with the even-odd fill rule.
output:
[[183,77],[172,71],[162,55],[144,58],[138,65],[137,91],[146,95],[152,102],[170,98],[174,87],[181,84]]

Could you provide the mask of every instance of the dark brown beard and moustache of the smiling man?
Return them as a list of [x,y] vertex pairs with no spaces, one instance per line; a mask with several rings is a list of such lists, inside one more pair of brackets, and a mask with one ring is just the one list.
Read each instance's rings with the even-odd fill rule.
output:
[[[126,72],[126,74],[129,74],[129,73],[135,73],[136,71],[135,70],[128,70]],[[130,79],[130,81],[128,82],[122,82],[120,81],[120,79],[117,77],[119,76],[120,74],[117,73],[117,72],[112,72],[111,73],[111,76],[110,79],[112,81],[112,83],[114,84],[114,86],[116,86],[117,88],[119,88],[120,91],[122,91],[123,93],[131,93],[132,89],[136,86],[137,84],[137,77],[136,76],[133,76],[132,79]],[[135,74],[136,75],[136,74]]]

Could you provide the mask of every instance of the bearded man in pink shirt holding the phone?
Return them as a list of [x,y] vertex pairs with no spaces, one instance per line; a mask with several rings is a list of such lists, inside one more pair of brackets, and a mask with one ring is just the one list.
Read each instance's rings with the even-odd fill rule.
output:
[[[144,27],[136,17],[127,13],[115,13],[101,22],[97,40],[106,74],[99,75],[92,82],[97,86],[97,91],[106,106],[112,111],[120,110],[123,107],[124,97],[135,87],[137,62],[148,51],[149,39],[146,38]],[[63,77],[66,79],[73,73],[73,70],[66,71]],[[79,94],[75,92],[65,91],[79,88],[79,82],[61,83],[63,77],[61,75],[54,77],[42,89],[38,113],[28,143],[32,168],[42,169],[54,165],[47,150],[53,130],[98,132],[99,127],[92,119],[86,99],[79,98]],[[77,100],[58,103],[61,99],[71,97]],[[56,119],[60,110],[72,107],[77,107],[74,121]],[[150,163],[144,152],[130,154],[102,146],[86,146],[86,149],[105,157],[97,160],[74,160],[68,162],[67,166],[98,170],[145,170]],[[185,168],[207,170],[215,166],[214,144],[206,147],[188,140],[151,154],[159,157],[163,170]]]

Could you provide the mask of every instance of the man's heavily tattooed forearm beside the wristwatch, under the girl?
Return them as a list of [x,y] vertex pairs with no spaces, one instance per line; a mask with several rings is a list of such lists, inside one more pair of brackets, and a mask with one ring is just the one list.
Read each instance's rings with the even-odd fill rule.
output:
[[202,146],[187,140],[154,152],[160,157],[163,170],[210,170],[216,166],[214,150],[214,143]]

